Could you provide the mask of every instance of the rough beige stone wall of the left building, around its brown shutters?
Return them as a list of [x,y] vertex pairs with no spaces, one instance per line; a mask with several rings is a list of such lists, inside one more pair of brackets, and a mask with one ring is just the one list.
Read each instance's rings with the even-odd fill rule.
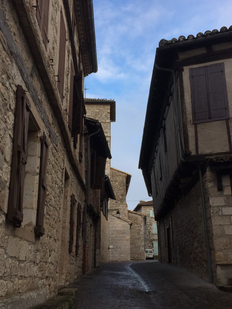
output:
[[[85,161],[78,163],[71,134],[67,126],[71,53],[66,44],[65,98],[58,93],[58,45],[60,7],[62,1],[53,1],[49,10],[49,46],[45,49],[31,2],[25,3],[30,19],[33,53],[24,36],[18,15],[11,1],[0,4],[0,296],[44,290],[48,297],[57,293],[59,285],[67,285],[82,273],[83,234],[80,233],[79,253],[75,253],[76,235],[72,252],[68,251],[70,232],[71,194],[75,194],[74,226],[77,205],[84,209]],[[70,10],[72,7],[69,1]],[[24,6],[21,6],[24,9]],[[21,11],[22,11],[21,10]],[[65,16],[65,14],[63,14]],[[26,23],[26,18],[24,22]],[[65,19],[66,29],[67,21]],[[7,35],[6,35],[7,34]],[[33,38],[33,35],[36,37]],[[75,44],[78,46],[77,37]],[[38,45],[36,45],[38,44]],[[40,51],[40,57],[36,52]],[[77,53],[78,54],[78,53]],[[38,55],[38,54],[37,54]],[[53,59],[53,64],[50,66]],[[49,76],[45,83],[45,77]],[[28,164],[24,185],[22,227],[6,221],[11,176],[12,140],[14,138],[15,97],[17,85],[22,85],[31,104],[31,117],[36,126],[28,134]],[[53,106],[51,105],[53,104]],[[54,108],[54,106],[56,108]],[[55,111],[54,111],[55,109]],[[61,128],[62,125],[62,128]],[[47,165],[47,193],[45,201],[45,234],[36,238],[38,175],[40,163],[39,138],[45,133],[49,143]],[[84,158],[84,156],[83,156]],[[75,168],[74,168],[75,167]],[[81,218],[82,221],[82,218]],[[88,219],[89,221],[89,219]],[[83,222],[81,222],[83,223]],[[88,225],[88,239],[94,241],[94,225]],[[91,256],[93,244],[87,248]],[[87,269],[93,266],[93,254]]]

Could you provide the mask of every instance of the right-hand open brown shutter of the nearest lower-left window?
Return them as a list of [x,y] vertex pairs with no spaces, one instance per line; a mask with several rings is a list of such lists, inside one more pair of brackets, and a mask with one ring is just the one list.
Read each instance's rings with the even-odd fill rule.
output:
[[35,226],[36,237],[44,235],[44,207],[47,192],[46,175],[49,144],[45,133],[40,138],[41,141],[41,159],[40,159],[40,178],[39,178],[39,191],[38,191],[38,206],[37,206],[37,221]]

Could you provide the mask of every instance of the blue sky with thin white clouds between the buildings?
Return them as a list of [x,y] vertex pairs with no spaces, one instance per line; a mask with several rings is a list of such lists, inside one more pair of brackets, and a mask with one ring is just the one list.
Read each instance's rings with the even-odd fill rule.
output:
[[93,0],[98,72],[85,78],[87,98],[114,99],[111,166],[132,175],[128,209],[150,200],[138,169],[156,48],[161,39],[232,24],[230,1]]

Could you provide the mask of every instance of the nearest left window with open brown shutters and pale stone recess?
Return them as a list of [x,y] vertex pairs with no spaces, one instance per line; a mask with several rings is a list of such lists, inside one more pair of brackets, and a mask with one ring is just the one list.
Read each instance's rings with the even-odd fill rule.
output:
[[[41,137],[36,114],[32,114],[30,106],[23,87],[18,85],[7,219],[15,227],[20,227],[24,213],[27,230],[32,228],[36,236],[42,236],[45,231],[43,223],[49,145],[45,133]],[[34,219],[36,206],[37,219]]]

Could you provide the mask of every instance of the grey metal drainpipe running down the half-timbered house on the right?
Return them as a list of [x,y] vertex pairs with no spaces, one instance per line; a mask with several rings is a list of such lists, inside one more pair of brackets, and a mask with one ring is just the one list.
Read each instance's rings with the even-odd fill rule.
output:
[[[157,64],[155,65],[157,70],[166,71],[172,73],[173,76],[173,84],[174,84],[174,107],[176,112],[176,127],[177,127],[177,137],[178,137],[178,146],[179,146],[179,152],[180,152],[180,159],[183,162],[186,162],[186,160],[182,156],[182,145],[181,145],[181,138],[180,138],[180,129],[179,129],[179,114],[178,114],[178,97],[177,97],[177,91],[176,91],[176,74],[174,70],[167,69],[167,68],[161,68]],[[209,247],[209,236],[208,236],[208,226],[207,226],[207,218],[206,218],[206,210],[205,210],[205,201],[204,201],[204,187],[203,187],[203,180],[202,180],[202,172],[200,168],[200,164],[197,164],[198,172],[199,172],[199,178],[200,178],[200,188],[201,188],[201,204],[202,204],[202,210],[203,210],[203,219],[204,219],[204,230],[205,230],[205,241],[206,241],[206,250],[207,250],[207,261],[208,261],[208,279],[209,282],[212,283],[212,264],[211,264],[211,255],[210,255],[210,247]]]

